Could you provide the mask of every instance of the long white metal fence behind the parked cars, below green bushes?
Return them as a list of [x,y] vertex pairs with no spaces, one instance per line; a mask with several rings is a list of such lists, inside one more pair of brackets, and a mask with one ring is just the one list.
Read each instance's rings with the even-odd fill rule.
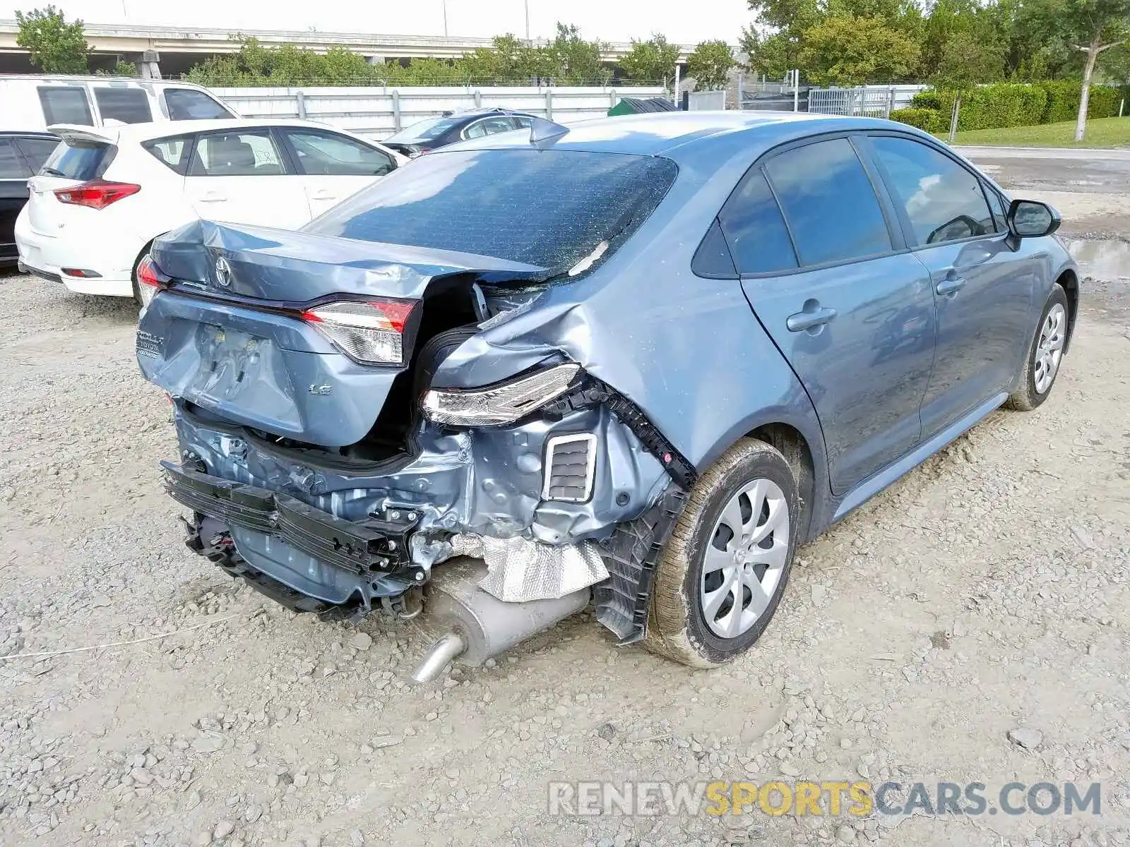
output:
[[381,139],[444,112],[502,106],[575,123],[600,117],[620,97],[669,96],[657,86],[214,88],[244,117],[303,117]]

